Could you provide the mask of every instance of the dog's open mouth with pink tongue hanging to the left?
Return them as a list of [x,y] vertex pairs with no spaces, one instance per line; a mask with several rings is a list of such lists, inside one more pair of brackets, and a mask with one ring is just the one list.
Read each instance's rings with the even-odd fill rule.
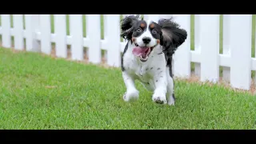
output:
[[147,46],[138,46],[137,43],[135,43],[133,54],[140,58],[142,62],[146,62],[149,58],[150,52],[154,49],[155,46],[147,47]]

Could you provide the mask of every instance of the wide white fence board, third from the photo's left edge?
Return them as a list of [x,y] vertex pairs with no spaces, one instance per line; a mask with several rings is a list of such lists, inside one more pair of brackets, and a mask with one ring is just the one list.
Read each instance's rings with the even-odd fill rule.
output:
[[26,50],[40,51],[40,43],[37,39],[39,29],[39,14],[26,14]]

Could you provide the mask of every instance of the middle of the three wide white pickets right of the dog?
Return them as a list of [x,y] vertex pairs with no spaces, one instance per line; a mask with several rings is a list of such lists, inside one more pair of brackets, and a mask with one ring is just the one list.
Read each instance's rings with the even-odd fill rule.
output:
[[202,14],[200,17],[201,81],[218,82],[219,14]]

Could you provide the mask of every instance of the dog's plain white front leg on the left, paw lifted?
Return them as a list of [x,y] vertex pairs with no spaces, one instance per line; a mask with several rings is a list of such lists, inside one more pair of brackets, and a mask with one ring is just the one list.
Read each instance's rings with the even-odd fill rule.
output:
[[122,72],[122,78],[126,84],[126,93],[123,95],[125,102],[134,102],[138,99],[138,90],[134,84],[134,77],[127,74],[126,71]]

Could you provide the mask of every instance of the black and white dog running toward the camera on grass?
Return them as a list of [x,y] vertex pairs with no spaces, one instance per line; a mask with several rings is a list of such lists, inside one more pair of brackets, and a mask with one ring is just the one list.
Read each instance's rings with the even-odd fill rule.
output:
[[154,92],[154,102],[174,105],[172,57],[178,46],[185,42],[186,30],[180,29],[172,18],[146,22],[139,15],[129,15],[121,22],[121,37],[128,41],[122,54],[122,78],[126,85],[124,101],[138,99],[139,92],[134,85],[138,80]]

